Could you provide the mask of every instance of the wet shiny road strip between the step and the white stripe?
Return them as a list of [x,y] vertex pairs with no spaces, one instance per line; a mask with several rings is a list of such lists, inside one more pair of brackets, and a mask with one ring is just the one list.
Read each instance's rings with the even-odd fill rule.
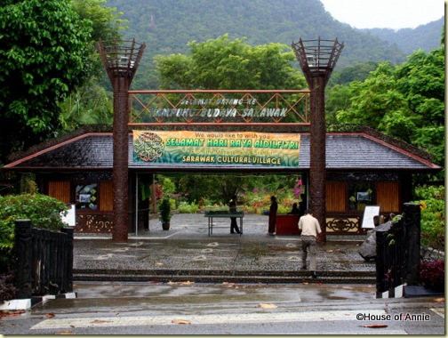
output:
[[[226,310],[239,307],[257,310],[260,303],[276,304],[278,307],[294,308],[307,302],[338,301],[357,304],[372,302],[374,286],[308,286],[247,285],[247,284],[142,284],[122,282],[76,283],[76,299],[56,299],[33,307],[33,315],[46,314],[52,310],[60,313],[89,313],[102,310],[119,312],[129,310],[170,311],[182,304],[185,309],[201,308],[206,311]],[[301,304],[301,305],[300,305]]]

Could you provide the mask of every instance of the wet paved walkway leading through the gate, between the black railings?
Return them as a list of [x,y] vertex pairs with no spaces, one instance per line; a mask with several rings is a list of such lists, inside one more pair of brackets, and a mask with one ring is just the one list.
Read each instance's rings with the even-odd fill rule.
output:
[[[238,220],[239,222],[239,220]],[[150,220],[149,230],[128,241],[111,235],[75,236],[75,280],[132,280],[296,283],[309,278],[300,270],[300,237],[268,236],[268,216],[244,215],[244,234],[230,234],[229,219],[213,219],[208,235],[204,214],[175,214],[171,229]],[[331,237],[317,245],[319,280],[374,283],[374,262],[357,254],[364,237]]]

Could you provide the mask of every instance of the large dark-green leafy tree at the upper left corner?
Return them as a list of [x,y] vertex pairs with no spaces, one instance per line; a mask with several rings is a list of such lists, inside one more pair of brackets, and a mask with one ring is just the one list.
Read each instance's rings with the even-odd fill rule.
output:
[[90,74],[92,21],[70,0],[4,0],[0,7],[0,163],[52,135],[60,102]]

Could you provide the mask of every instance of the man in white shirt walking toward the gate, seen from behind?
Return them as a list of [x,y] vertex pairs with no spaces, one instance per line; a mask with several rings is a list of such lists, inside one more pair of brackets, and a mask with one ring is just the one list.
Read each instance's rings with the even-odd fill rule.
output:
[[317,277],[316,272],[316,237],[322,232],[319,221],[313,217],[311,210],[305,210],[305,214],[300,217],[299,229],[301,229],[302,242],[302,270],[307,270],[307,256],[309,248],[309,270],[312,271],[313,278]]

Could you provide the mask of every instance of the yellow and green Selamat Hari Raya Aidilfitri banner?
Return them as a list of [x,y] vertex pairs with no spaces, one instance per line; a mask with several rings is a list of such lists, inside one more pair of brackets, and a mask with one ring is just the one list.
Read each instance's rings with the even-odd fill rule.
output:
[[133,161],[181,165],[298,166],[300,134],[133,131]]

